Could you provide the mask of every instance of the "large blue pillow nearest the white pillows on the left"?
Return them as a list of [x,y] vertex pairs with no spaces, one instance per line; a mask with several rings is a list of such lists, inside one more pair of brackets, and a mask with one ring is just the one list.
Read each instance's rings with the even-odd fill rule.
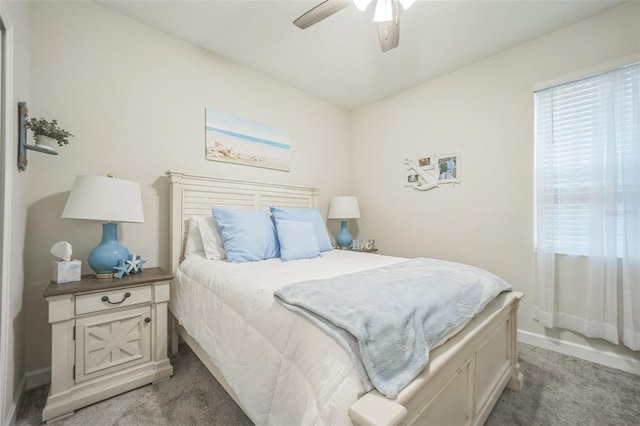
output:
[[221,207],[211,211],[229,262],[255,262],[280,255],[276,228],[267,212]]

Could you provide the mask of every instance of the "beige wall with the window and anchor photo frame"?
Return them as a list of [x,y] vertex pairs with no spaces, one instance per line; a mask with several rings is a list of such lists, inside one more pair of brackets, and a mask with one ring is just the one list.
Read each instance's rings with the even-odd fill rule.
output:
[[[382,253],[477,265],[523,291],[519,327],[635,356],[600,340],[547,332],[532,319],[533,96],[536,83],[640,52],[640,4],[625,4],[352,113],[359,236]],[[403,188],[402,161],[461,153],[462,184]]]

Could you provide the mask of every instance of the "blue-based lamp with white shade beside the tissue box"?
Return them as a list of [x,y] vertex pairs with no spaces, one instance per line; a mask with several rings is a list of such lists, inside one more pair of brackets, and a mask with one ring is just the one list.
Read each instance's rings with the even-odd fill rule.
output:
[[89,253],[98,278],[111,278],[129,250],[118,241],[117,222],[144,222],[140,185],[105,176],[77,176],[62,212],[67,219],[103,220],[102,241]]

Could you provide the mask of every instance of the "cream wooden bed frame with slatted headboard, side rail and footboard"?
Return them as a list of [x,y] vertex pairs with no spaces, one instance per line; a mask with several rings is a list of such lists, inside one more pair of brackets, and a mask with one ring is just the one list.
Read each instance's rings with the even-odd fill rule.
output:
[[[251,182],[168,171],[170,180],[171,272],[181,261],[189,216],[209,214],[212,205],[268,210],[317,207],[318,188]],[[518,364],[516,314],[523,294],[502,293],[460,332],[430,354],[425,370],[395,400],[377,391],[349,408],[356,425],[481,425],[505,387],[522,388]],[[202,347],[172,319],[171,347],[178,335],[242,407]],[[243,408],[244,409],[244,408]]]

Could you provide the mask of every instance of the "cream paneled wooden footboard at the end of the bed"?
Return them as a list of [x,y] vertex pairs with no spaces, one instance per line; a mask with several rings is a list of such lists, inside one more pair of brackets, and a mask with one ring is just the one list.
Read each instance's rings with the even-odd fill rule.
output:
[[369,392],[349,409],[356,425],[483,424],[506,386],[522,387],[516,313],[522,293],[503,293],[432,351],[398,398]]

